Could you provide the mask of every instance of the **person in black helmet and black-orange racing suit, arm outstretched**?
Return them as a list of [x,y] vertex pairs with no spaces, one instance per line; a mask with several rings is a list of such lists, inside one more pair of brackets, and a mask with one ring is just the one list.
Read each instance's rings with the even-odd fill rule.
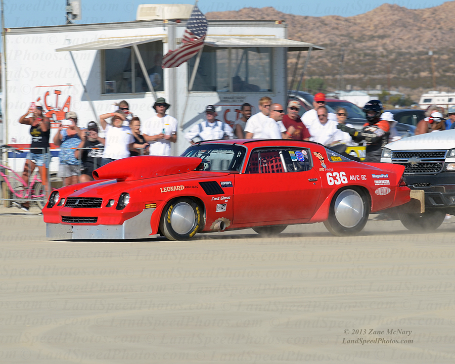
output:
[[371,100],[363,107],[367,114],[367,123],[360,131],[345,124],[338,124],[337,128],[349,133],[355,143],[367,142],[367,154],[365,161],[371,163],[381,162],[382,149],[388,143],[390,124],[381,119],[382,103],[379,100]]

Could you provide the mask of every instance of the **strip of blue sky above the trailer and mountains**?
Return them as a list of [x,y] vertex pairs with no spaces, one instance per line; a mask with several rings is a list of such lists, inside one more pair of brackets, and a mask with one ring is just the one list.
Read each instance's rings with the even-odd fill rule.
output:
[[[66,0],[4,0],[5,26],[7,28],[61,25],[65,23]],[[177,2],[159,0],[160,4],[194,4],[194,2]],[[274,7],[283,13],[308,16],[341,15],[353,16],[366,13],[378,6],[389,3],[408,9],[431,8],[444,3],[443,0],[324,0],[283,2],[277,0],[230,0],[213,2],[200,0],[199,8],[203,13],[209,11],[239,10],[245,7]],[[147,0],[82,0],[82,20],[76,24],[108,23],[132,21],[135,19],[139,4],[153,4]]]

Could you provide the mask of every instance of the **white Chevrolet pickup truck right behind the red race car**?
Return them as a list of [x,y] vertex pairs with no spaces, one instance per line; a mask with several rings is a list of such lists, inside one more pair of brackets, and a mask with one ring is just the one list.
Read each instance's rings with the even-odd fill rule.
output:
[[407,187],[425,192],[425,213],[399,213],[412,231],[439,228],[445,215],[455,215],[455,130],[410,136],[382,151],[381,162],[405,167]]

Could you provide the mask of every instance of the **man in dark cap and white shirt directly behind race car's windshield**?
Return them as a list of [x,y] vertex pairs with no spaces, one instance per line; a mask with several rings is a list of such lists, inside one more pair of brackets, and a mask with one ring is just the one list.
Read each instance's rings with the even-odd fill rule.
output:
[[216,120],[218,114],[213,105],[207,105],[205,108],[205,120],[193,127],[185,134],[185,138],[194,144],[196,138],[200,140],[219,140],[233,139],[234,132],[232,127],[224,121]]

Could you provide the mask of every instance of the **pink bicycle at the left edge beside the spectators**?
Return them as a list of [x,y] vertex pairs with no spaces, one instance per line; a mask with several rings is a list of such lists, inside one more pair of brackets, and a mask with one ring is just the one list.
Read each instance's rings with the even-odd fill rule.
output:
[[[13,148],[8,148],[8,152],[22,153]],[[30,184],[27,185],[22,177],[7,165],[0,164],[0,200],[13,201],[19,204],[25,201],[36,202],[38,207],[42,209],[46,203],[44,186],[37,172],[30,175]],[[10,194],[4,197],[4,186],[8,187]],[[11,197],[11,198],[10,198]]]

